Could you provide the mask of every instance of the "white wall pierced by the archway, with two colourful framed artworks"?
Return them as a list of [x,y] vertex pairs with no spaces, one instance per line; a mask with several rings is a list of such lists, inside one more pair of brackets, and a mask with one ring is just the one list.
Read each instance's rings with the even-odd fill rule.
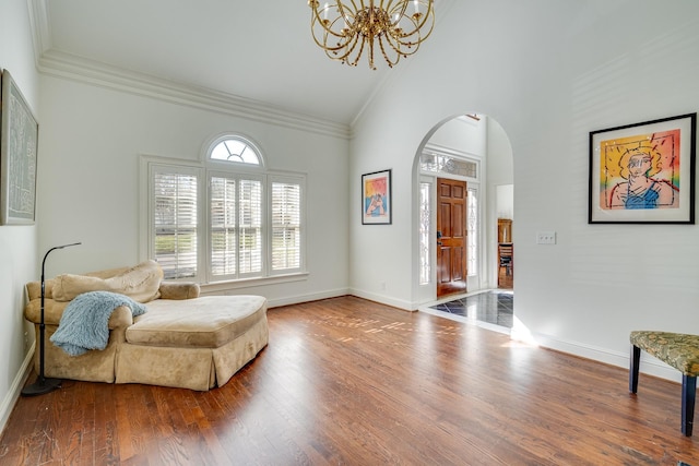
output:
[[[699,333],[699,227],[587,223],[589,132],[697,111],[697,50],[694,0],[467,0],[438,12],[354,129],[353,178],[392,168],[395,199],[381,228],[362,227],[353,205],[353,289],[377,295],[386,282],[386,302],[414,307],[410,167],[437,122],[477,109],[512,145],[522,326],[619,366],[633,328]],[[541,230],[558,243],[535,244]]]

